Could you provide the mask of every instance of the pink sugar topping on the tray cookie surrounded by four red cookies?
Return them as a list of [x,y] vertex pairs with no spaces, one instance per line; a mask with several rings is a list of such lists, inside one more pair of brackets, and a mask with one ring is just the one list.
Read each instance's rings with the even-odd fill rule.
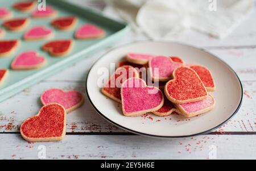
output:
[[24,38],[40,38],[48,36],[52,31],[49,28],[44,28],[43,26],[33,27],[24,34]]

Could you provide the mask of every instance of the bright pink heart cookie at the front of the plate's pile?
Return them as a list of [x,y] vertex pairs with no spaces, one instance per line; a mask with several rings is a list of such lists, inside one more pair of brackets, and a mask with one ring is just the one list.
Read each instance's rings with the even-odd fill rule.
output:
[[129,78],[121,86],[122,110],[125,116],[139,116],[159,110],[164,103],[160,89],[147,86],[141,78]]

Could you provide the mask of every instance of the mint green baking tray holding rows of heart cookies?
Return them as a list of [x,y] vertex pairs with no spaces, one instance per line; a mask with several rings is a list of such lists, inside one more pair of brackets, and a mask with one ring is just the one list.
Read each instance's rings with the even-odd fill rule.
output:
[[[0,1],[1,7],[6,7],[13,12],[13,18],[30,17],[31,12],[19,12],[12,8],[13,3],[17,0]],[[99,51],[102,48],[112,45],[115,41],[121,39],[125,35],[128,27],[125,23],[120,23],[110,18],[103,16],[100,12],[84,9],[73,5],[69,2],[60,0],[47,0],[47,5],[52,6],[58,11],[55,18],[60,16],[77,16],[78,22],[71,31],[59,31],[51,26],[50,22],[53,18],[35,19],[30,18],[30,23],[24,31],[10,32],[5,30],[5,36],[1,40],[19,39],[20,44],[15,53],[11,56],[0,57],[0,69],[9,69],[9,76],[0,85],[0,102],[11,97],[12,95],[26,89],[36,82],[43,80],[53,74],[59,72],[61,69],[67,68],[69,65],[92,55],[92,53]],[[2,21],[0,21],[2,26]],[[85,23],[96,24],[105,30],[106,35],[102,39],[92,40],[76,40],[73,35],[76,29]],[[46,26],[54,30],[54,36],[47,40],[26,41],[22,39],[24,32],[33,26]],[[41,47],[49,40],[55,39],[72,39],[73,47],[71,53],[64,57],[52,57],[47,52],[42,51]],[[11,70],[10,65],[13,59],[21,52],[35,50],[40,55],[47,59],[47,64],[43,68],[34,70]]]

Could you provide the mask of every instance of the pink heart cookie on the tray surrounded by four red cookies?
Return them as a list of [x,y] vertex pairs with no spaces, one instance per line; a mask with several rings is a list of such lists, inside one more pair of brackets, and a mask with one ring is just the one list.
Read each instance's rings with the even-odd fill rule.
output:
[[43,27],[43,26],[36,26],[30,28],[28,30],[23,38],[27,40],[39,40],[39,39],[46,39],[50,36],[52,36],[53,31],[49,28]]

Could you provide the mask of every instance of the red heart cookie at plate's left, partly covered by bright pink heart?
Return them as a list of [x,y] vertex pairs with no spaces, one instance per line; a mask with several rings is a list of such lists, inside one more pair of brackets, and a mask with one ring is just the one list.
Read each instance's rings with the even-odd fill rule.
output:
[[121,84],[130,77],[139,77],[137,70],[133,66],[124,65],[117,68],[108,82],[101,88],[102,93],[114,101],[121,103]]

